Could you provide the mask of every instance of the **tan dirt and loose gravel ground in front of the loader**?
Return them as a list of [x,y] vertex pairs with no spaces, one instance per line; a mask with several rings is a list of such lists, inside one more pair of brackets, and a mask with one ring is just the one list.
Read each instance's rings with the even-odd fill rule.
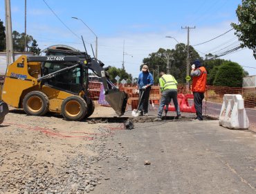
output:
[[[93,116],[114,114],[95,107]],[[92,122],[91,122],[92,123]],[[0,193],[89,193],[104,174],[106,136],[122,123],[65,121],[62,116],[27,116],[10,109],[0,125]]]

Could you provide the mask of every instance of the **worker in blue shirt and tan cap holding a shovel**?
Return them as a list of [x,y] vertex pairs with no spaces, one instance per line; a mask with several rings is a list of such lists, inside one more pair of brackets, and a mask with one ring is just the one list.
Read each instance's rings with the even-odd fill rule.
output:
[[141,95],[141,103],[138,107],[138,112],[140,112],[140,116],[148,116],[148,106],[149,106],[149,93],[151,86],[154,85],[154,78],[152,73],[149,73],[149,67],[146,64],[143,65],[140,74],[138,75],[138,90],[139,90],[139,98]]

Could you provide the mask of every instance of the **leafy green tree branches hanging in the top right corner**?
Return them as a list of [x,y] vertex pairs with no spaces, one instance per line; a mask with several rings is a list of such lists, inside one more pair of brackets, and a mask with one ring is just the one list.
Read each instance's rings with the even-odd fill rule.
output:
[[239,24],[231,23],[236,30],[235,35],[243,42],[242,48],[248,47],[253,50],[256,59],[256,1],[242,0],[242,5],[237,7]]

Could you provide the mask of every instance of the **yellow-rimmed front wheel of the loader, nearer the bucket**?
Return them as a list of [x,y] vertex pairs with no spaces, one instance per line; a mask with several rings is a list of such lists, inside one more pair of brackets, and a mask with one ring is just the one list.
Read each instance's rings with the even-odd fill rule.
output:
[[87,104],[80,96],[69,96],[62,103],[62,115],[68,121],[81,121],[87,114]]

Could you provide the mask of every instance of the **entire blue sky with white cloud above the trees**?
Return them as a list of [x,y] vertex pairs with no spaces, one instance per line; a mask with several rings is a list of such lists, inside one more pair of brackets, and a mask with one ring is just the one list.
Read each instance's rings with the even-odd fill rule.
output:
[[[23,33],[25,1],[10,2],[12,30]],[[239,4],[241,0],[27,0],[27,34],[37,40],[41,49],[66,44],[84,51],[82,35],[91,56],[91,45],[95,53],[97,36],[98,60],[105,67],[117,68],[124,62],[127,73],[138,77],[140,64],[150,53],[159,48],[175,48],[177,42],[187,44],[188,30],[182,29],[185,26],[192,28],[190,45],[200,44],[194,48],[203,58],[206,53],[218,55],[237,46],[239,42],[230,23],[238,23],[235,10]],[[0,19],[5,25],[4,8],[2,0]],[[250,76],[256,75],[256,60],[248,48],[221,59],[237,62]],[[0,67],[0,71],[5,72],[5,67]]]

